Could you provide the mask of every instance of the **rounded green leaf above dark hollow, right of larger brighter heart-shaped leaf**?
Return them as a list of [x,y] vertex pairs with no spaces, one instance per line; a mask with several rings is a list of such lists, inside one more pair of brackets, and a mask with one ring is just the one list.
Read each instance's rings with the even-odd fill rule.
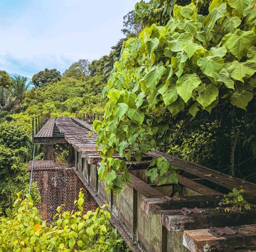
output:
[[218,88],[215,87],[213,84],[203,84],[197,87],[196,91],[198,92],[198,97],[196,98],[196,100],[203,106],[203,109],[205,109],[214,100],[216,100],[216,97],[219,94]]

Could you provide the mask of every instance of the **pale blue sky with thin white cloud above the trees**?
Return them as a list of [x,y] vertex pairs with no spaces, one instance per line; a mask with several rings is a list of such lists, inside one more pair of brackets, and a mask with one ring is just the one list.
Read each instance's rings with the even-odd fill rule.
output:
[[99,59],[124,37],[138,0],[0,0],[0,70],[31,78]]

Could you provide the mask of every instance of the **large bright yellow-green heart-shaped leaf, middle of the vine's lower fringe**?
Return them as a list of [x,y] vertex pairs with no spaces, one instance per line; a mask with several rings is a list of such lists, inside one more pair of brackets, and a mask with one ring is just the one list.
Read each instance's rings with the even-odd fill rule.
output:
[[201,83],[200,78],[195,74],[184,74],[180,79],[178,79],[176,83],[177,92],[180,95],[180,97],[184,100],[184,102],[187,102],[191,96],[192,91],[198,87],[198,85]]

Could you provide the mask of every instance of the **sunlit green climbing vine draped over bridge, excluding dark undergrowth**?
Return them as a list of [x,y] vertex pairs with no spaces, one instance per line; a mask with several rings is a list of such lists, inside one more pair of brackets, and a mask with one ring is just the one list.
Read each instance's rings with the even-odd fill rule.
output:
[[[130,180],[129,167],[112,158],[114,152],[140,161],[166,145],[166,132],[177,122],[182,126],[198,112],[224,104],[246,110],[255,95],[256,3],[176,2],[136,5],[145,28],[124,42],[103,91],[104,121],[95,121],[94,128],[103,158],[98,174],[107,191],[118,193]],[[159,184],[177,182],[166,159],[153,159],[150,168],[152,181],[160,174]]]

